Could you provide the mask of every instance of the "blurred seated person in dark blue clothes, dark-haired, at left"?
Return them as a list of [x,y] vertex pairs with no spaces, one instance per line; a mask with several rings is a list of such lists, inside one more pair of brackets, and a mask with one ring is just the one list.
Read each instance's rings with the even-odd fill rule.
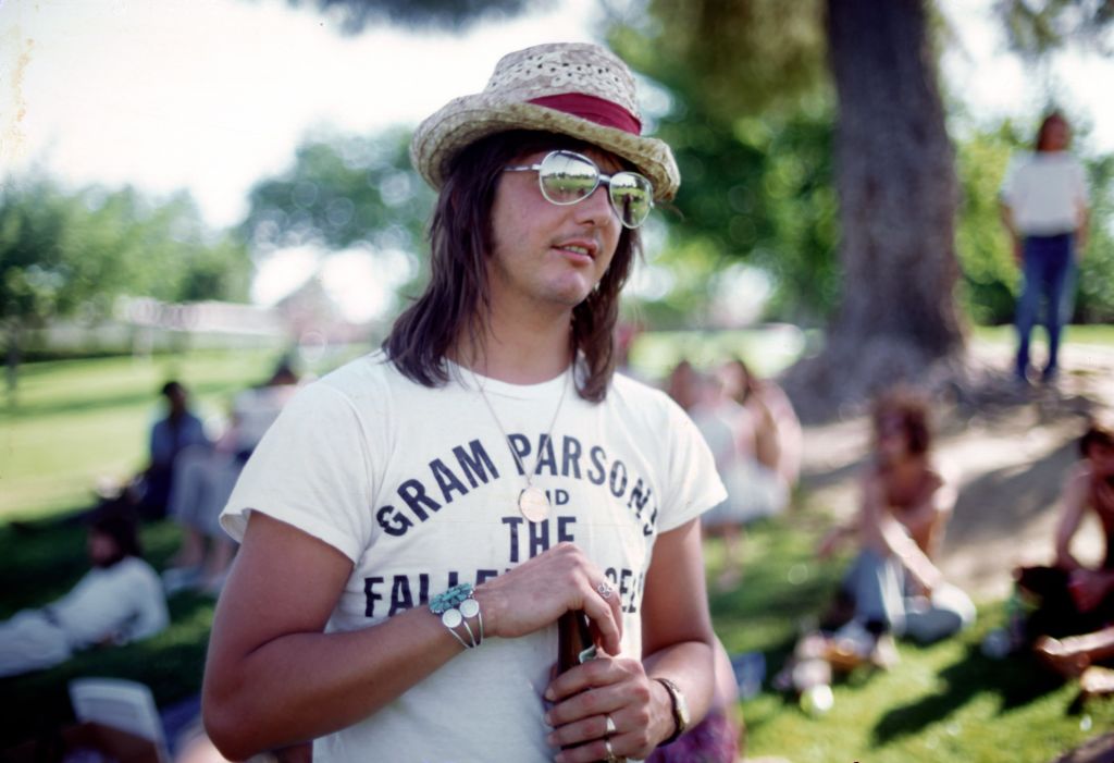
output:
[[209,447],[201,419],[189,410],[186,388],[172,380],[160,394],[166,398],[166,415],[152,427],[150,462],[141,475],[139,512],[145,519],[166,516],[178,454],[188,448]]

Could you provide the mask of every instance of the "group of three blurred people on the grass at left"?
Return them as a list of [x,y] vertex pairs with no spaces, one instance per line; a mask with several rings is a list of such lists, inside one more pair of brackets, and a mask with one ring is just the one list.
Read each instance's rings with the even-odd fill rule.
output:
[[[267,381],[235,395],[227,425],[216,437],[193,410],[182,382],[163,384],[147,466],[71,518],[86,528],[89,571],[58,600],[0,623],[0,677],[154,636],[169,625],[167,597],[179,590],[219,594],[236,545],[217,516],[297,384],[282,360]],[[182,545],[160,574],[144,558],[140,529],[165,519],[182,527]]]

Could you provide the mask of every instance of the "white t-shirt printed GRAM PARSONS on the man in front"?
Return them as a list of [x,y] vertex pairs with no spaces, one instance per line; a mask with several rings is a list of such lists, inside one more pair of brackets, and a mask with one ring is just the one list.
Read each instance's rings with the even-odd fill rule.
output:
[[[329,632],[375,625],[573,540],[620,596],[624,654],[641,655],[655,538],[725,495],[700,433],[663,392],[616,376],[599,404],[570,385],[547,439],[567,374],[532,385],[480,378],[554,505],[548,521],[531,525],[518,511],[526,480],[499,425],[472,376],[452,370],[462,380],[429,389],[377,352],[303,389],[245,466],[225,529],[242,539],[257,509],[351,558]],[[380,712],[317,740],[314,760],[553,760],[541,693],[556,655],[556,627],[488,637]]]

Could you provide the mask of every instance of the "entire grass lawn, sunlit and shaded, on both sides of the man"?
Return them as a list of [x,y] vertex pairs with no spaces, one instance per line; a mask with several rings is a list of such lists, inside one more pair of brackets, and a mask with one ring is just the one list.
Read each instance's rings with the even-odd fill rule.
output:
[[[1081,341],[1073,329],[1073,341]],[[1102,332],[1100,332],[1102,333]],[[1012,340],[1007,340],[1012,341]],[[1114,332],[1096,341],[1114,342]],[[89,502],[102,475],[127,476],[143,464],[146,431],[157,411],[156,390],[180,378],[207,413],[264,379],[271,354],[190,353],[136,362],[67,361],[26,366],[20,404],[0,411],[0,617],[50,600],[85,571],[79,527],[59,524]],[[790,761],[908,763],[986,761],[1045,763],[1114,727],[1114,700],[1077,702],[1077,692],[1026,658],[993,661],[978,645],[1004,619],[1003,604],[980,603],[968,633],[928,648],[900,645],[888,673],[860,672],[838,682],[836,704],[812,717],[791,697],[769,688],[798,628],[831,595],[844,560],[820,564],[812,549],[828,518],[808,496],[792,513],[754,526],[746,539],[746,571],[730,594],[712,594],[713,618],[729,652],[762,652],[764,691],[742,703],[747,753]],[[179,534],[169,522],[144,529],[148,557],[165,566]],[[709,574],[722,547],[707,546]],[[81,654],[51,671],[0,679],[0,750],[66,722],[66,682],[82,675],[143,681],[168,705],[201,686],[214,603],[192,594],[170,600],[172,627],[140,644]],[[18,700],[18,702],[13,702]]]

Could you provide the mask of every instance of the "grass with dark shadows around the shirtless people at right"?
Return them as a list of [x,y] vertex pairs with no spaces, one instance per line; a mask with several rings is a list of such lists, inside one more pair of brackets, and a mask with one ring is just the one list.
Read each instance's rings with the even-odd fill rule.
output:
[[[979,650],[1005,619],[999,601],[981,603],[976,625],[960,636],[918,647],[899,644],[889,672],[860,668],[838,678],[823,716],[770,688],[797,637],[831,595],[843,561],[820,564],[812,548],[823,518],[808,509],[754,528],[746,574],[729,595],[712,594],[716,632],[731,653],[766,658],[764,691],[742,703],[746,753],[790,761],[911,763],[979,761],[1045,763],[1094,734],[1114,728],[1114,700],[1078,702],[1078,692],[1028,657],[996,661]],[[709,568],[721,558],[714,541]]]

